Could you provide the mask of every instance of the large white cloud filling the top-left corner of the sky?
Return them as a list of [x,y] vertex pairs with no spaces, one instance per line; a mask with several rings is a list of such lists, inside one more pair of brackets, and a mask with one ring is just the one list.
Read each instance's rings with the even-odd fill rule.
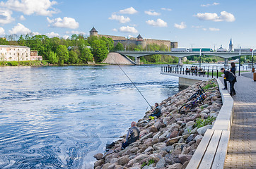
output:
[[25,15],[52,15],[59,11],[52,6],[56,5],[57,1],[50,0],[8,0],[1,1],[0,6],[11,9],[13,11],[22,12]]

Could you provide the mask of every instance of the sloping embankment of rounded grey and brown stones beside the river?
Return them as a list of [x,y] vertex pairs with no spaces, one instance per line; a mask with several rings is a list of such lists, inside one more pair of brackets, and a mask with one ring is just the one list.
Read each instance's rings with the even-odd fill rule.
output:
[[[192,108],[187,114],[178,113],[180,106],[199,89],[204,89],[207,98],[203,104]],[[121,151],[122,140],[105,154],[96,154],[94,164],[97,169],[148,169],[148,168],[186,168],[194,151],[211,128],[221,106],[221,94],[216,80],[197,82],[178,94],[161,102],[160,118],[148,121],[146,112],[137,127],[140,139]]]

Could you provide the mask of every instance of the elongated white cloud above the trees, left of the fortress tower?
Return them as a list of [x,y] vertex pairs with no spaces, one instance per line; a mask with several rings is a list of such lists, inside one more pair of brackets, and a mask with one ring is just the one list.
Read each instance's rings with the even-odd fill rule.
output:
[[69,29],[76,29],[79,27],[79,23],[76,22],[74,18],[64,17],[62,18],[55,18],[50,20],[47,17],[48,23],[51,23],[52,27],[62,27],[62,28],[69,28]]

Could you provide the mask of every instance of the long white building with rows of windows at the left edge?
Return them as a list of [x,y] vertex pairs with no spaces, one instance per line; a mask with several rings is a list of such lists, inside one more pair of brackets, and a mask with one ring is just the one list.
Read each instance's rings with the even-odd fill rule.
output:
[[0,61],[30,61],[27,46],[0,45]]

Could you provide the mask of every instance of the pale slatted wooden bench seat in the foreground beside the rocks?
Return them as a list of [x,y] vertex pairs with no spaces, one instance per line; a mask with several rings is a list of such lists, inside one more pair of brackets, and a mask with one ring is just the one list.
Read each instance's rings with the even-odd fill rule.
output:
[[188,163],[187,169],[223,168],[229,135],[229,130],[207,130]]

